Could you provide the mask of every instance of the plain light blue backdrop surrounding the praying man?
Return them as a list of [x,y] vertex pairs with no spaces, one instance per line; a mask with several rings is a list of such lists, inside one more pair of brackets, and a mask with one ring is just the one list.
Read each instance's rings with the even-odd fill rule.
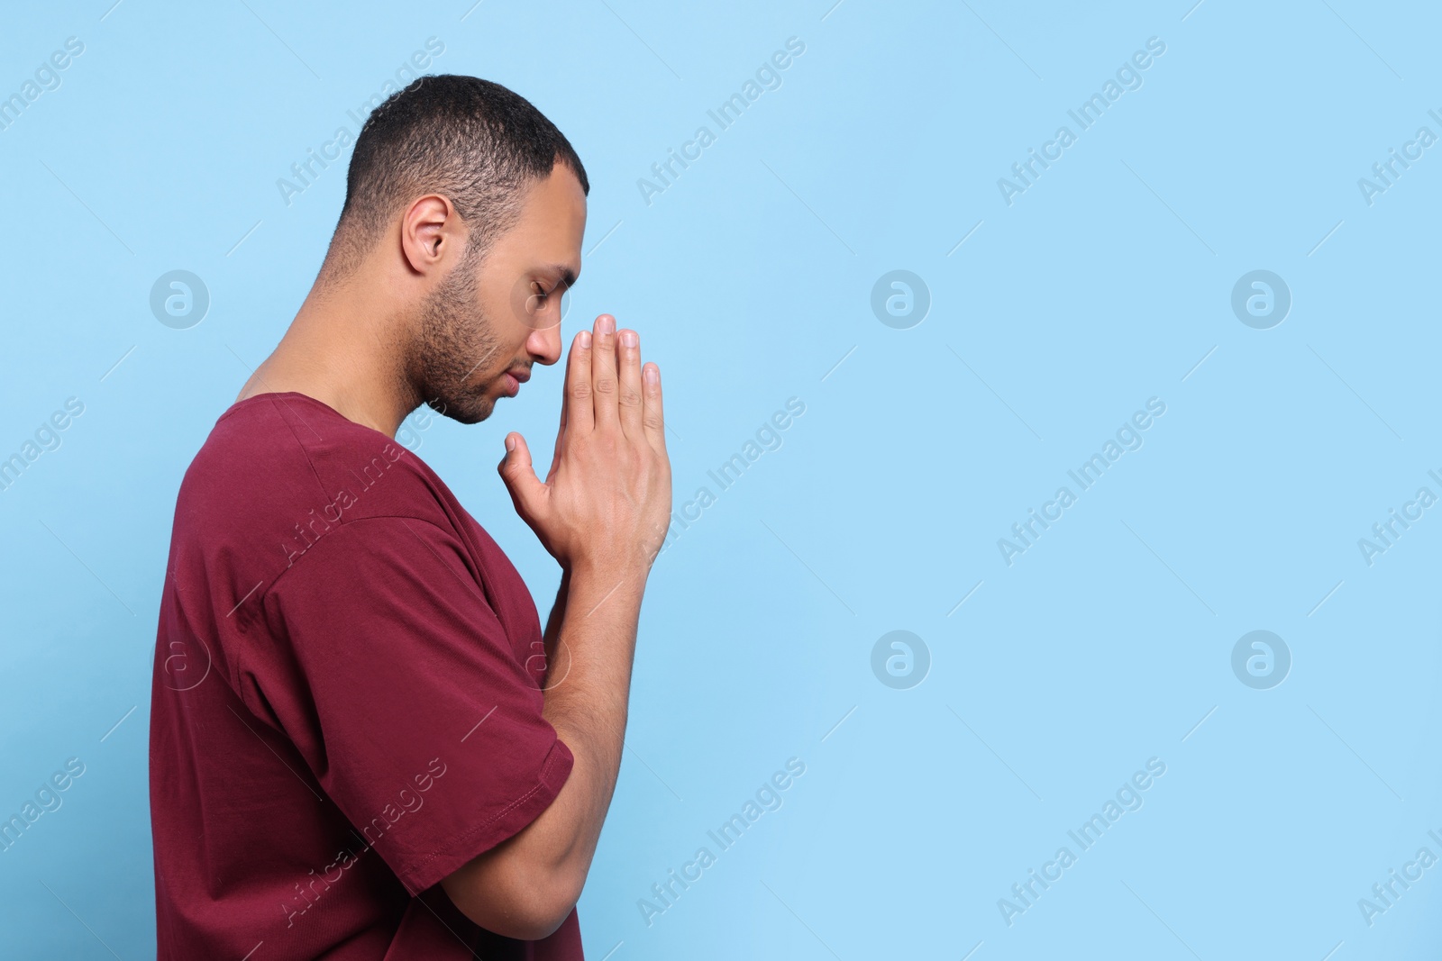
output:
[[[519,91],[585,163],[565,331],[600,311],[642,331],[678,509],[806,405],[652,575],[588,957],[1436,957],[1442,866],[1371,926],[1357,905],[1419,847],[1442,856],[1442,509],[1371,566],[1357,546],[1442,494],[1442,147],[1371,206],[1357,186],[1442,134],[1433,9],[110,3],[27,4],[0,33],[0,94],[85,43],[0,131],[0,457],[85,403],[0,494],[0,813],[87,765],[0,853],[7,957],[154,954],[147,705],[176,488],[340,209],[343,161],[290,206],[275,180],[355,133],[346,109],[430,36],[433,71]],[[637,179],[717,133],[707,109],[792,36],[783,85],[647,205]],[[998,177],[1079,133],[1067,109],[1154,36],[1141,89],[1008,206]],[[212,297],[189,330],[147,305],[177,268]],[[893,269],[930,290],[908,330],[870,307]],[[1270,330],[1230,308],[1253,269],[1292,292]],[[495,464],[509,429],[549,451],[559,376],[415,448],[542,618],[557,569]],[[998,537],[1154,396],[1145,445],[1008,566]],[[908,690],[871,673],[893,630],[930,650]],[[1231,673],[1252,630],[1292,653],[1270,690]],[[792,756],[784,805],[647,926],[650,885]],[[1145,805],[1008,926],[998,899],[1154,756]]]

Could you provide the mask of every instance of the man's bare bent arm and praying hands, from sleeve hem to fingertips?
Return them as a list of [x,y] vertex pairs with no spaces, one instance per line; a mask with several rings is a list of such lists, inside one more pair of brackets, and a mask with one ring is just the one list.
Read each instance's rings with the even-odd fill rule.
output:
[[523,939],[559,926],[585,883],[622,762],[642,594],[671,516],[660,373],[610,314],[572,341],[555,450],[542,483],[525,438],[508,434],[497,471],[564,569],[541,712],[571,771],[531,824],[443,882],[472,921]]

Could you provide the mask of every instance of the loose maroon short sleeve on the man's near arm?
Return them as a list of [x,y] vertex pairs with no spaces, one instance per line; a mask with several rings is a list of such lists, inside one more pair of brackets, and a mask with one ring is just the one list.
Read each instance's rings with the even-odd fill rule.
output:
[[411,895],[529,824],[574,761],[486,599],[523,582],[483,589],[469,556],[412,517],[340,524],[270,586],[271,637],[241,658],[247,706]]

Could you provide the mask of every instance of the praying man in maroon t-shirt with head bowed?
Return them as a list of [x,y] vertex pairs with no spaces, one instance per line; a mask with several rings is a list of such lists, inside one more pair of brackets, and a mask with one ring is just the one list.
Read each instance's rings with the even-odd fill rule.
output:
[[391,97],[275,352],[180,486],[150,726],[159,957],[581,958],[642,592],[671,513],[660,375],[601,314],[547,480],[499,470],[561,565],[516,569],[415,454],[561,357],[588,183],[528,101]]

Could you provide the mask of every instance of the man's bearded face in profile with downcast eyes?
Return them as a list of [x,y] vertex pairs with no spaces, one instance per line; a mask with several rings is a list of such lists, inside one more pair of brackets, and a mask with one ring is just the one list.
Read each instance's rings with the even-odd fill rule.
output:
[[557,164],[522,192],[515,225],[483,258],[467,248],[421,305],[411,376],[461,424],[515,396],[535,363],[561,359],[561,295],[581,272],[585,195]]

